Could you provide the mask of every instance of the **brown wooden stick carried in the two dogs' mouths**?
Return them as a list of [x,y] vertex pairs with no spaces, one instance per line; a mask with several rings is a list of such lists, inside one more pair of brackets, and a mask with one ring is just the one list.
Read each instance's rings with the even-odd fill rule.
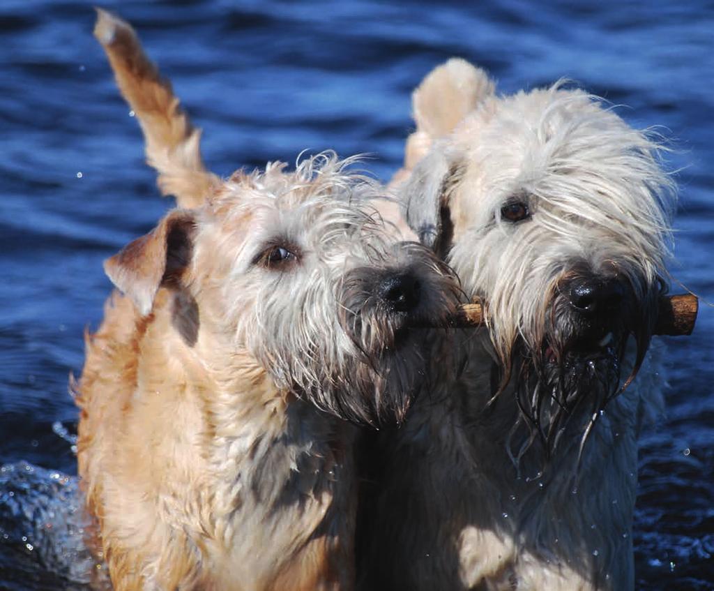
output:
[[[654,334],[667,334],[673,337],[692,334],[698,309],[699,300],[692,294],[661,297]],[[478,327],[482,323],[483,306],[478,299],[474,299],[471,304],[463,304],[453,319],[455,328]]]

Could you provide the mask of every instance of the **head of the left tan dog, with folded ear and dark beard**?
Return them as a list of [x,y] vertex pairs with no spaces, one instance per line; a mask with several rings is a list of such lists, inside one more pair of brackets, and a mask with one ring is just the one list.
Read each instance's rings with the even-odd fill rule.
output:
[[219,332],[223,363],[248,354],[277,387],[339,417],[394,422],[425,381],[427,348],[438,341],[409,326],[445,324],[458,285],[428,249],[389,238],[366,203],[376,187],[342,166],[326,158],[289,174],[282,166],[235,174],[205,206],[172,212],[107,270],[146,314],[153,295],[126,269],[156,262],[164,245],[152,289],[174,289],[174,327],[188,346],[201,331]]

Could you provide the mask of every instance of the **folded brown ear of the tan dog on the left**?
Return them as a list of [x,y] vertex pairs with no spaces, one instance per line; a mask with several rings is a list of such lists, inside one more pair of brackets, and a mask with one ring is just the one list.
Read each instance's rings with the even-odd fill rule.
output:
[[111,282],[131,297],[142,316],[151,312],[159,287],[180,282],[193,256],[195,229],[195,214],[175,209],[104,262]]

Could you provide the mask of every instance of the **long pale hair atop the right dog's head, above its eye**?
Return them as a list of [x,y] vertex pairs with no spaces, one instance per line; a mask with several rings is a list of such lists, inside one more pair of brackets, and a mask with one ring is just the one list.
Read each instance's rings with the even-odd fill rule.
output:
[[521,198],[575,217],[573,207],[616,204],[620,215],[638,216],[655,205],[648,187],[666,184],[652,157],[657,146],[597,99],[555,87],[496,104],[455,138],[466,162],[461,187],[473,193],[462,197],[478,200],[477,217]]

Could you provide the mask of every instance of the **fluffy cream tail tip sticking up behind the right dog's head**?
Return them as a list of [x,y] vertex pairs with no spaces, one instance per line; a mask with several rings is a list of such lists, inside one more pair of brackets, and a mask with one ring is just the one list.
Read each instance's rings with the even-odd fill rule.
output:
[[494,91],[495,84],[481,68],[465,59],[448,60],[429,72],[413,91],[411,103],[417,131],[431,139],[450,134]]

